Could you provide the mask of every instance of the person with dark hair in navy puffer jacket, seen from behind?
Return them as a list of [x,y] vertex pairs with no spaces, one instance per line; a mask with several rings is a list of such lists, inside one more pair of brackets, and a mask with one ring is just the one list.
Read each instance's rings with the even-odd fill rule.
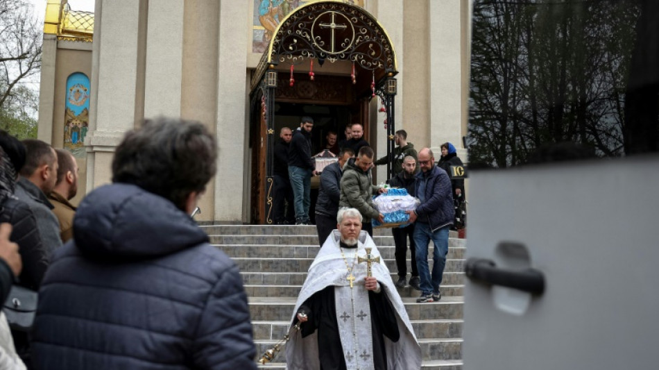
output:
[[41,285],[35,369],[256,368],[239,270],[189,216],[215,160],[202,124],[124,137]]

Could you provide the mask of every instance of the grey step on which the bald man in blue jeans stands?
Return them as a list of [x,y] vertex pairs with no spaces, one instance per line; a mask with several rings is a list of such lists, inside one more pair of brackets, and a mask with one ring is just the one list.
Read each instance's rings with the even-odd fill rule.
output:
[[[283,321],[291,319],[296,298],[250,297],[250,317],[256,321]],[[439,302],[416,303],[416,297],[402,297],[411,320],[461,319],[463,297],[442,297]]]

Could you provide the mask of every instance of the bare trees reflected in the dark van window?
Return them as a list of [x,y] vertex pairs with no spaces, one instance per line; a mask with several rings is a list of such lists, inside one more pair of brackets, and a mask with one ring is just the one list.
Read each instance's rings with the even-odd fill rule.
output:
[[470,162],[514,166],[560,142],[622,155],[638,16],[636,0],[477,0]]

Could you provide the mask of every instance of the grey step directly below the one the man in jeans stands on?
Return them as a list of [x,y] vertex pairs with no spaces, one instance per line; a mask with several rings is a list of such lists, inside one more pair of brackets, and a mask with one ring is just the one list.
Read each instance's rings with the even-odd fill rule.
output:
[[[425,338],[460,338],[463,321],[454,320],[411,320],[412,328],[418,339]],[[275,342],[288,333],[289,321],[252,321],[255,340],[271,339]]]

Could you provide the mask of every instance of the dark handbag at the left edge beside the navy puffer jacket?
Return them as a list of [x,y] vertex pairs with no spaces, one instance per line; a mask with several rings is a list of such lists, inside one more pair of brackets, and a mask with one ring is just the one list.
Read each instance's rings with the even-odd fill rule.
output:
[[3,312],[12,330],[28,332],[32,329],[37,313],[37,292],[19,285],[12,285],[3,305]]

